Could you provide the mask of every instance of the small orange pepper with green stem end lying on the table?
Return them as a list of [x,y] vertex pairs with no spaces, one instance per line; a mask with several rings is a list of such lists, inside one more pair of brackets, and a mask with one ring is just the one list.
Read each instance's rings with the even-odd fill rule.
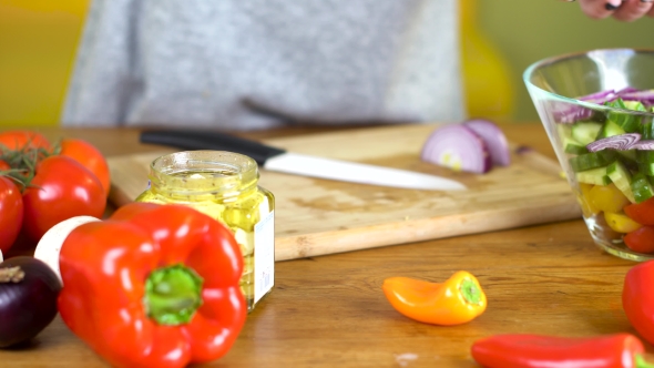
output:
[[464,270],[457,272],[441,284],[390,277],[384,280],[382,289],[397,311],[433,325],[453,326],[471,321],[487,306],[479,282]]

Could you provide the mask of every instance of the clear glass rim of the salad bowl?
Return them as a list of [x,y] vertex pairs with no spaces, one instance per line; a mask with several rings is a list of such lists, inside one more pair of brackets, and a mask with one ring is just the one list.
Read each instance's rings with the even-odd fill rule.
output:
[[[584,50],[584,51],[576,51],[576,52],[568,52],[568,53],[563,53],[563,54],[559,54],[559,55],[554,55],[554,57],[548,57],[544,59],[540,59],[533,63],[531,63],[529,67],[527,67],[527,69],[524,70],[524,72],[522,73],[522,80],[523,82],[527,84],[528,88],[533,88],[537,89],[545,94],[552,95],[554,98],[556,98],[558,100],[564,101],[564,102],[570,102],[570,103],[574,103],[574,104],[579,104],[582,105],[584,108],[589,108],[589,109],[594,109],[594,110],[603,110],[603,111],[624,111],[631,114],[635,114],[635,115],[645,115],[645,116],[653,116],[654,112],[645,112],[645,111],[634,111],[634,110],[624,110],[624,109],[617,109],[617,108],[611,108],[611,106],[605,106],[605,105],[600,105],[596,103],[592,103],[592,102],[587,102],[587,101],[582,101],[582,100],[578,100],[574,98],[568,98],[564,96],[562,94],[558,94],[548,90],[543,90],[542,88],[533,84],[530,81],[530,76],[534,73],[534,71],[541,67],[545,67],[545,65],[550,65],[553,64],[555,62],[561,62],[568,59],[575,59],[575,58],[580,58],[583,55],[587,55],[589,53],[592,52],[632,52],[634,54],[636,53],[647,53],[647,54],[652,54],[654,57],[654,48],[605,48],[605,49],[590,49],[590,50]],[[654,86],[653,86],[654,89]],[[600,92],[600,91],[597,91]]]

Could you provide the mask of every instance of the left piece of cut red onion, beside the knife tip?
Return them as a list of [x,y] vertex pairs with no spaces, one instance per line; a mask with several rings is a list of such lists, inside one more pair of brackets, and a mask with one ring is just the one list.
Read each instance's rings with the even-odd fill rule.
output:
[[420,159],[454,171],[477,174],[491,168],[487,144],[463,124],[448,124],[436,129],[425,142]]

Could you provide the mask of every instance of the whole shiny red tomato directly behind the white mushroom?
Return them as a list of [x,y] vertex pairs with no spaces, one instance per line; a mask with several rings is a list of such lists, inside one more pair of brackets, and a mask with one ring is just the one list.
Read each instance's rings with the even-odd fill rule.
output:
[[102,217],[106,206],[100,180],[67,156],[49,156],[37,166],[23,192],[23,233],[39,241],[50,227],[74,216]]

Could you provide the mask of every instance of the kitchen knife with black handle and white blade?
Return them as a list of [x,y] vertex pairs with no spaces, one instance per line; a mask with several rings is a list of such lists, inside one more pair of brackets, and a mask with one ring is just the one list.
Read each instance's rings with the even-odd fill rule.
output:
[[147,130],[141,142],[177,149],[231,151],[254,159],[267,170],[341,182],[427,191],[464,191],[457,181],[406,170],[287,152],[256,141],[215,131]]

